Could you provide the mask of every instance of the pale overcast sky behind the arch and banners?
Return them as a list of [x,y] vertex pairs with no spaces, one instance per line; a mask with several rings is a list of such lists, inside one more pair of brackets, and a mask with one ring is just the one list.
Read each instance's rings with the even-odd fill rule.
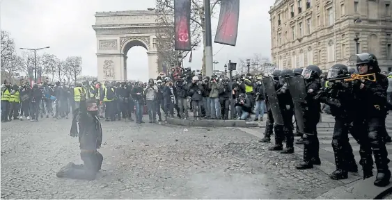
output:
[[[81,56],[83,75],[97,76],[95,12],[146,10],[155,7],[155,0],[0,0],[1,30],[9,31],[16,47],[45,49],[58,58]],[[269,7],[274,0],[241,0],[237,46],[213,44],[217,69],[224,69],[229,59],[251,58],[253,53],[270,57]],[[212,40],[218,15],[212,19]],[[222,49],[223,47],[223,49]],[[40,51],[40,53],[43,53]],[[219,51],[219,52],[218,52]],[[192,63],[185,67],[201,69],[203,49],[194,51]],[[127,53],[128,79],[148,79],[146,49],[133,47]],[[188,59],[185,59],[188,60]]]

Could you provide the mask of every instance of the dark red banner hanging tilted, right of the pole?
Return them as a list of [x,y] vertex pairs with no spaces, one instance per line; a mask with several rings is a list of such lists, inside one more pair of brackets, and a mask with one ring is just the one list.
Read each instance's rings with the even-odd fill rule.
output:
[[238,18],[240,17],[240,0],[221,1],[221,11],[215,43],[235,46],[237,43]]

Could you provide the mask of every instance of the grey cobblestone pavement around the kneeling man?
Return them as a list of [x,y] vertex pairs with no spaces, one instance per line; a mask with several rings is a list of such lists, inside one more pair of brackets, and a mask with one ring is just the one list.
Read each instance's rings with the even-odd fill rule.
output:
[[81,163],[70,119],[1,124],[1,199],[313,199],[343,183],[238,129],[102,122],[95,181],[57,178]]

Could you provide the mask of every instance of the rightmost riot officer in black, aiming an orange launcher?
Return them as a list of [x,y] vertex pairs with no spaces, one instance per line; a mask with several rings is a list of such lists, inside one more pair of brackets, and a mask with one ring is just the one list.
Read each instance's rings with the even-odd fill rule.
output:
[[373,176],[371,162],[371,152],[366,146],[369,145],[375,157],[375,164],[377,167],[377,176],[374,184],[379,187],[384,187],[389,184],[391,178],[391,171],[389,171],[388,152],[386,151],[384,143],[383,120],[386,115],[386,88],[388,88],[388,79],[386,76],[380,74],[378,61],[375,55],[371,53],[361,53],[350,57],[350,61],[356,64],[356,68],[360,75],[366,78],[361,78],[361,81],[354,84],[354,94],[359,99],[360,106],[365,109],[366,115],[363,119],[366,122],[367,131],[366,140],[360,140],[361,165],[363,167],[363,178]]

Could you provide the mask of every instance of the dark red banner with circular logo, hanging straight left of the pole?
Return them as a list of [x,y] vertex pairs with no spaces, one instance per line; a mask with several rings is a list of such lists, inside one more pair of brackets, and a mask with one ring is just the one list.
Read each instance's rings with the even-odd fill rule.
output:
[[191,51],[191,0],[174,0],[174,49]]

